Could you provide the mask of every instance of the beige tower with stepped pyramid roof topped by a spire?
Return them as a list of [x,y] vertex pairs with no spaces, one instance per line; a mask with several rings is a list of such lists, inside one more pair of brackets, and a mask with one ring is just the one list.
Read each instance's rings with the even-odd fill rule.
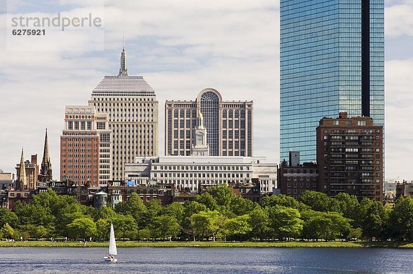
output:
[[125,46],[117,76],[105,76],[89,105],[107,113],[112,131],[112,180],[123,180],[125,163],[158,155],[158,101],[142,76],[129,76]]

